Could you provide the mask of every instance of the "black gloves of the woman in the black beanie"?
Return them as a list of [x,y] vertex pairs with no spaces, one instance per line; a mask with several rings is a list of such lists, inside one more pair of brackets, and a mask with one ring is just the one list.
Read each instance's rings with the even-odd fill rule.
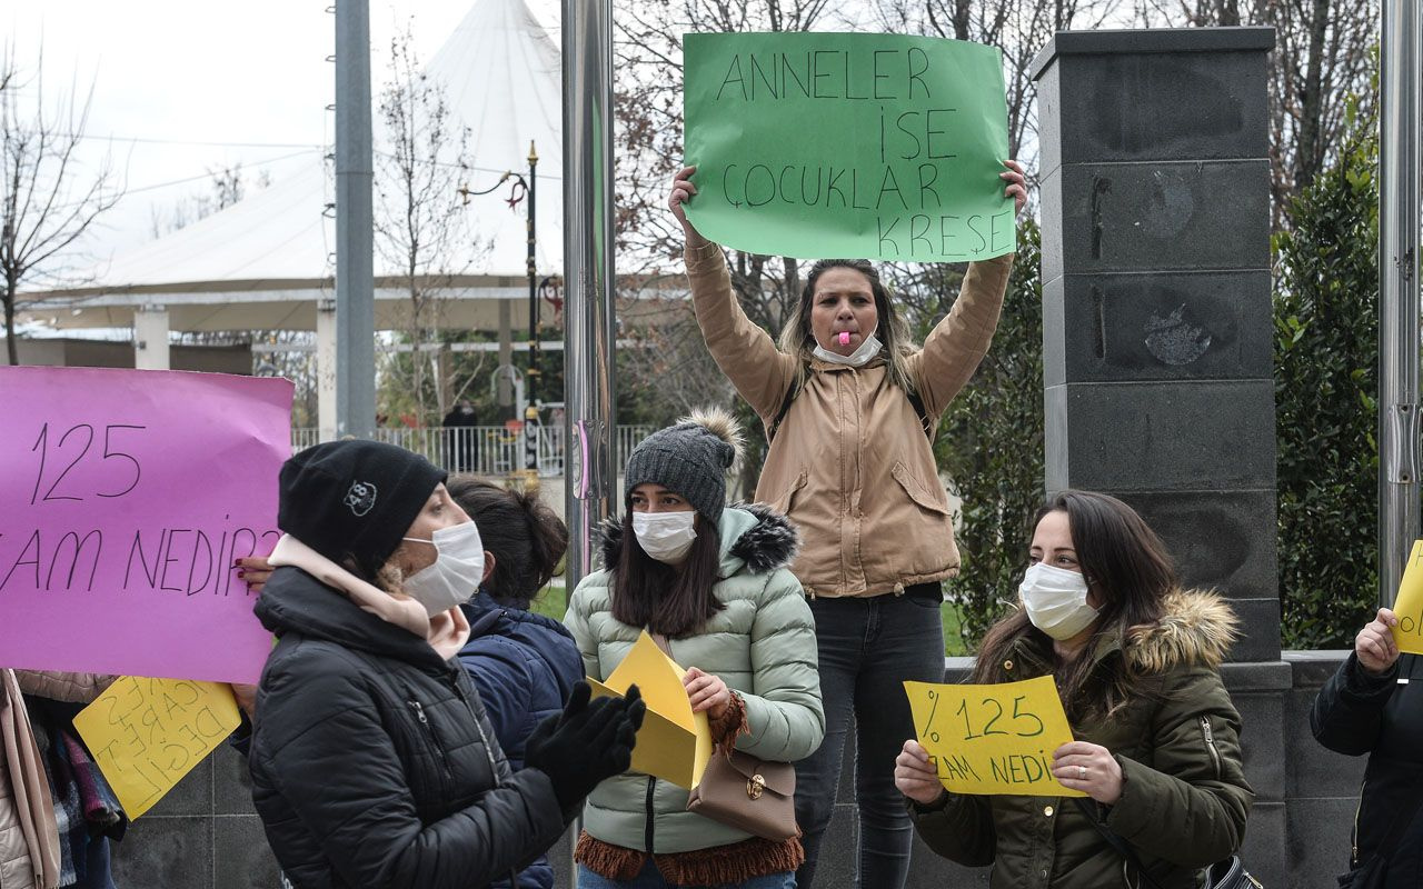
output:
[[588,698],[592,688],[576,683],[564,713],[551,715],[534,730],[524,745],[524,765],[536,768],[554,782],[554,795],[565,811],[572,809],[606,778],[632,765],[642,717],[647,704],[638,686],[628,694]]

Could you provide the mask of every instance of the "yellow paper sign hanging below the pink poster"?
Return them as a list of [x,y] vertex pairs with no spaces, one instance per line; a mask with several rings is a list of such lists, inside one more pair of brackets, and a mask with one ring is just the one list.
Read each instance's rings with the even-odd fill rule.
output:
[[74,727],[132,821],[240,721],[225,684],[125,676],[74,717]]

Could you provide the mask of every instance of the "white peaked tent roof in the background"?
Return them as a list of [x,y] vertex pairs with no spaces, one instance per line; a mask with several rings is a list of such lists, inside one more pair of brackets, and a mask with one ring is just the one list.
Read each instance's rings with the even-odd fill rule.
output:
[[[425,74],[444,87],[453,122],[470,128],[468,148],[477,168],[470,175],[470,188],[488,188],[505,169],[527,172],[529,144],[535,144],[538,272],[561,272],[564,162],[558,47],[524,0],[477,0],[425,65]],[[379,152],[383,139],[379,115],[376,119]],[[527,206],[521,203],[517,211],[505,206],[501,198],[508,185],[470,199],[472,228],[481,239],[492,239],[492,250],[472,267],[451,270],[461,273],[451,296],[522,299],[527,294],[522,287]],[[57,327],[127,326],[132,309],[145,304],[165,304],[175,330],[306,327],[306,319],[314,321],[314,300],[334,296],[332,202],[332,171],[313,155],[307,166],[269,188],[114,257],[94,276],[95,284],[31,293],[24,299],[63,300],[61,312],[50,303],[37,304],[30,313],[34,320]],[[376,263],[377,279],[398,273],[381,267],[380,250]],[[381,283],[387,287],[381,289]],[[377,280],[377,302],[400,297],[398,289],[388,283]],[[192,309],[199,304],[203,309],[184,312],[189,303]],[[242,310],[243,304],[249,309]],[[488,312],[477,314],[482,320]],[[377,307],[377,314],[390,313]],[[464,314],[453,310],[450,321],[461,323]],[[475,316],[468,320],[475,321]]]

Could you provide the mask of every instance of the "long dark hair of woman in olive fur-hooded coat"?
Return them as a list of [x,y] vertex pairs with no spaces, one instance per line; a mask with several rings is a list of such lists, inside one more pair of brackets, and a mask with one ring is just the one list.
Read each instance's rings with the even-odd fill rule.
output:
[[[1077,563],[1090,589],[1101,599],[1097,633],[1072,663],[1057,666],[1057,687],[1070,718],[1106,715],[1126,703],[1138,677],[1131,673],[1130,664],[1123,663],[1116,676],[1094,678],[1091,651],[1096,642],[1101,636],[1118,636],[1127,643],[1137,627],[1161,620],[1163,600],[1177,586],[1175,568],[1161,538],[1136,509],[1114,496],[1063,491],[1037,511],[1033,528],[1050,512],[1067,513]],[[1019,607],[983,637],[973,681],[1005,681],[1003,661],[1023,637],[1033,637],[1052,650],[1052,639],[1035,627],[1027,612]]]

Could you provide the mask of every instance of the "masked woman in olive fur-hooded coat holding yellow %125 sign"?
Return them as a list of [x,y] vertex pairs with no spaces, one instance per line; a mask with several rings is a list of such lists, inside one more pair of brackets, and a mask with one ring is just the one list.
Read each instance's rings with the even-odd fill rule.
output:
[[1044,752],[1086,798],[951,794],[909,740],[895,782],[919,836],[958,863],[993,865],[993,889],[1201,886],[1239,848],[1254,798],[1220,676],[1235,614],[1177,586],[1161,541],[1104,494],[1053,498],[1029,560],[1020,607],[985,636],[973,683],[1053,677],[1076,740]]

